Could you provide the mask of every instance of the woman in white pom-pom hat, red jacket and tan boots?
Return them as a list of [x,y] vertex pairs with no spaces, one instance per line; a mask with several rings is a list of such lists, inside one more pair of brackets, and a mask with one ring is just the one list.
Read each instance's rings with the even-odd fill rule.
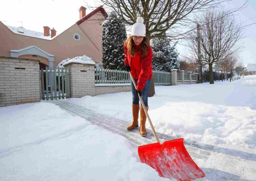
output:
[[[149,39],[145,37],[146,27],[143,24],[143,18],[137,18],[137,22],[132,26],[131,36],[124,43],[124,65],[125,69],[131,74],[137,84],[135,88],[132,86],[132,124],[127,127],[133,130],[138,127],[139,116],[139,96],[148,110],[148,92],[152,79],[152,49],[149,45]],[[140,106],[140,135],[147,134],[145,123],[147,117],[142,105]]]

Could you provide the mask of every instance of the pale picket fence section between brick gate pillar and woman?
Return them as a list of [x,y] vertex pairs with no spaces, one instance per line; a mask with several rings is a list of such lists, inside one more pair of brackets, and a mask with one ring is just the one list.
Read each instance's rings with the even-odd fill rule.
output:
[[129,73],[121,70],[95,69],[95,84],[127,84]]

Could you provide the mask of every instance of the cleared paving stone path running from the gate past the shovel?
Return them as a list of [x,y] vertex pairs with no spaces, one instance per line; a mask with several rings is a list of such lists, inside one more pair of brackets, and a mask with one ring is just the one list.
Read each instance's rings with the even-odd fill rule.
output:
[[[101,128],[126,137],[133,146],[137,147],[155,142],[155,138],[151,130],[147,129],[147,136],[145,137],[139,135],[139,128],[128,131],[126,127],[129,123],[127,121],[88,110],[82,106],[69,103],[65,99],[48,100],[47,102],[58,105],[61,109],[67,111],[73,116],[83,117],[93,125],[100,126]],[[172,137],[163,133],[157,132],[157,135],[161,143],[163,141],[177,139],[177,137]],[[243,169],[250,169],[252,174],[256,173],[256,170],[253,169],[253,165],[256,163],[255,154],[185,140],[184,145],[193,160],[201,160],[206,166],[205,168],[201,168],[206,176],[199,180],[245,181],[242,179],[243,172],[240,173],[240,171],[237,171],[236,169],[234,169],[233,173],[224,171],[225,168],[236,168],[237,165],[243,165]]]

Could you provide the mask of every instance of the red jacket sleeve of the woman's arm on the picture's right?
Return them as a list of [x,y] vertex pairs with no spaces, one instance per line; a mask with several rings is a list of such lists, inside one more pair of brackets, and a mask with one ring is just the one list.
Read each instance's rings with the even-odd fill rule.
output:
[[144,57],[141,57],[141,71],[139,75],[139,79],[137,82],[137,90],[143,90],[144,86],[150,76],[150,71],[151,71],[151,66],[152,66],[152,58],[153,58],[153,53],[152,49],[149,46],[147,50],[147,55]]

